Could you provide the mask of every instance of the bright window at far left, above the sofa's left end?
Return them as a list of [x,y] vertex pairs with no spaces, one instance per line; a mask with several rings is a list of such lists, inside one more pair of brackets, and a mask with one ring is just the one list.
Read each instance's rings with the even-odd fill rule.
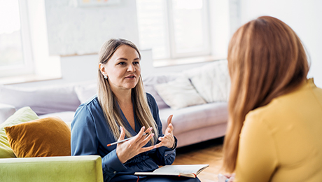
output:
[[0,0],[0,77],[33,72],[25,0]]

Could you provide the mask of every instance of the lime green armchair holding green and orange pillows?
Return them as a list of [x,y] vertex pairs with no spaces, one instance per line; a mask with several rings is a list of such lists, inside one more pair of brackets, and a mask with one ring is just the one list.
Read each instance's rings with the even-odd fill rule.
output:
[[70,130],[62,120],[38,119],[24,107],[0,124],[0,182],[104,181],[99,155],[70,153]]

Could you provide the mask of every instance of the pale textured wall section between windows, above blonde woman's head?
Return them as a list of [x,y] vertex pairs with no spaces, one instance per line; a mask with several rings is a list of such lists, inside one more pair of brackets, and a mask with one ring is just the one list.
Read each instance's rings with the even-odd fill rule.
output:
[[[32,1],[32,0],[31,0]],[[50,55],[83,55],[98,52],[110,38],[139,43],[137,6],[120,0],[110,6],[77,6],[73,0],[43,0]]]

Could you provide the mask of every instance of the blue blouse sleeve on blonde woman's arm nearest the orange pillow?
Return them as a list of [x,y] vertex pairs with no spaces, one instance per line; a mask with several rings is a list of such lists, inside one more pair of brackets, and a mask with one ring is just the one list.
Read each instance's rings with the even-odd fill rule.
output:
[[[97,130],[92,113],[80,106],[71,124],[71,155],[99,155]],[[103,174],[110,181],[117,172],[127,169],[116,155],[116,149],[102,157]]]

